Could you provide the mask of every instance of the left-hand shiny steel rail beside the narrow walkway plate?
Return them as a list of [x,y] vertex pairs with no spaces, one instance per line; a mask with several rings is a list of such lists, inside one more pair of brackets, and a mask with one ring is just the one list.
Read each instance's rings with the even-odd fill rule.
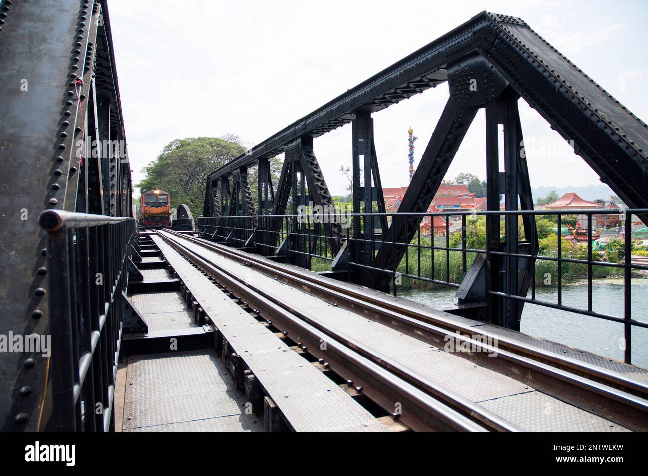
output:
[[[308,315],[287,306],[281,299],[262,291],[242,278],[233,275],[222,266],[212,262],[205,256],[198,255],[181,244],[179,240],[169,234],[172,231],[158,231],[165,242],[181,253],[187,260],[216,278],[225,288],[242,297],[261,315],[266,315],[278,328],[288,331],[288,336],[297,341],[304,341],[305,348],[316,357],[331,360],[335,356],[333,368],[343,369],[353,375],[354,383],[360,379],[367,383],[366,374],[371,374],[372,382],[369,387],[361,385],[362,392],[385,409],[393,409],[395,402],[410,402],[407,409],[403,409],[400,419],[412,429],[435,429],[430,426],[430,419],[439,419],[448,429],[468,431],[520,431],[520,428],[511,424],[501,416],[491,413],[480,405],[443,389],[438,385],[424,381],[422,376],[413,374],[409,369],[403,368],[393,359],[369,350],[354,342],[351,337],[341,332],[332,332],[321,324],[314,315]],[[320,344],[325,342],[325,351]],[[338,370],[340,372],[340,370]],[[342,372],[343,373],[343,372]],[[384,398],[382,392],[387,385],[392,392],[396,392],[400,400]],[[412,405],[415,405],[413,407]],[[413,418],[416,414],[425,414],[423,420]],[[427,423],[424,423],[427,422]],[[436,429],[439,429],[438,427]],[[443,427],[441,427],[443,429]]]

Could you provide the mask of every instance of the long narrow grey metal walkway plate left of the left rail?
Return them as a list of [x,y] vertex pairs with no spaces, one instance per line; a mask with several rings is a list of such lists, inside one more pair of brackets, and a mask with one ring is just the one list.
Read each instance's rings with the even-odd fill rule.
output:
[[194,299],[296,431],[386,431],[336,383],[253,319],[161,238],[152,237]]

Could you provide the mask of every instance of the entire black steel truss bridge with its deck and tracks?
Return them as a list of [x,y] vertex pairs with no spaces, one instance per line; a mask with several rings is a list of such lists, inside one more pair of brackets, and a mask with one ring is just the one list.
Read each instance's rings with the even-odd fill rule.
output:
[[[51,354],[1,352],[3,429],[648,428],[648,371],[632,365],[632,330],[648,323],[630,286],[648,267],[632,263],[629,232],[621,264],[599,261],[592,240],[582,259],[563,256],[560,241],[557,256],[540,253],[535,216],[550,212],[533,210],[518,100],[630,207],[605,210],[626,230],[648,218],[647,126],[521,19],[478,14],[214,171],[197,220],[182,206],[173,230],[147,231],[133,218],[106,1],[3,0],[0,18],[0,144],[11,164],[0,179],[1,333],[51,337]],[[443,82],[445,108],[388,213],[372,115]],[[487,244],[468,247],[472,216],[457,212],[440,215],[460,217],[461,246],[450,245],[448,220],[445,243],[428,244],[419,223],[432,220],[480,108]],[[349,123],[343,221],[325,214],[335,204],[314,139]],[[301,213],[309,203],[314,213]],[[575,212],[588,223],[601,214]],[[310,271],[316,261],[330,271]],[[536,295],[539,262],[557,266],[557,302]],[[564,266],[587,269],[583,308],[562,302]],[[594,306],[594,269],[606,266],[623,273],[616,315]],[[456,288],[457,300],[439,310],[402,299],[400,278]],[[625,362],[520,333],[531,304],[618,323]]]

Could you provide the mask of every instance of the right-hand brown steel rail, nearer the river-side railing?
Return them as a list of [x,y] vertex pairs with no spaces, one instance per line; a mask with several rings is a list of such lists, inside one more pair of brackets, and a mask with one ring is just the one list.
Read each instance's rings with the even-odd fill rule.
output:
[[[518,380],[522,378],[529,385],[559,396],[562,400],[575,403],[579,407],[588,410],[595,407],[601,416],[623,421],[624,425],[633,429],[648,428],[648,385],[641,381],[632,380],[571,357],[559,356],[515,339],[492,332],[480,332],[482,336],[488,337],[485,339],[487,342],[497,343],[496,347],[489,346],[470,337],[474,335],[474,328],[456,321],[413,308],[397,307],[397,303],[380,295],[369,295],[349,289],[333,280],[300,273],[224,245],[205,242],[191,236],[177,235],[247,264],[265,275],[281,279],[286,284],[318,295],[329,302],[335,302],[342,308],[371,315],[388,326],[399,328],[433,345],[443,347],[448,336],[459,344],[469,343],[469,348],[474,348],[472,346],[476,345],[483,352],[461,353],[461,356],[478,361],[484,367]],[[459,335],[456,334],[457,332]],[[500,358],[489,358],[489,354],[496,354]]]

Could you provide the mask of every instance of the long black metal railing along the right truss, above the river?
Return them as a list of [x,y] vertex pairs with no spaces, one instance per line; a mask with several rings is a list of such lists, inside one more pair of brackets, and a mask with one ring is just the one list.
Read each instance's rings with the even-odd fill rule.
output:
[[[519,269],[518,264],[524,263],[531,273],[527,295],[489,288],[487,294],[491,299],[538,304],[621,323],[625,339],[624,359],[630,363],[632,328],[648,328],[647,321],[632,318],[631,306],[632,271],[648,270],[648,266],[632,264],[632,222],[639,221],[636,215],[645,216],[647,213],[648,209],[578,209],[444,211],[424,214],[341,213],[335,216],[213,216],[198,218],[197,228],[203,238],[249,249],[261,255],[295,258],[289,259],[289,262],[303,264],[303,258],[307,257],[309,266],[314,267],[310,258],[320,258],[319,268],[316,269],[318,271],[322,270],[322,262],[329,262],[330,266],[330,262],[336,258],[332,255],[330,247],[330,240],[334,238],[338,242],[338,249],[347,244],[349,269],[357,267],[373,273],[386,274],[392,282],[397,278],[409,279],[413,282],[427,283],[428,286],[460,288],[470,265],[478,255],[484,255],[485,260],[489,262],[493,258],[499,258],[505,270]],[[435,217],[441,218],[441,221],[435,223]],[[618,220],[612,221],[616,221],[619,229],[624,231],[622,240],[608,242],[603,247],[606,251],[594,249],[592,244],[598,232],[592,230],[592,223],[596,223],[597,217],[617,218]],[[409,242],[402,238],[387,238],[388,241],[384,241],[385,234],[380,230],[381,218],[386,218],[389,223],[395,219],[404,220],[405,231],[401,236],[413,238]],[[562,229],[563,225],[575,225],[577,218],[586,220],[587,226],[583,227],[585,231],[581,236],[574,237],[574,244],[562,238]],[[602,220],[602,223],[609,226],[610,220],[607,218]],[[343,223],[341,236],[332,236],[331,227],[326,226],[327,220],[329,223]],[[352,232],[356,220],[360,220],[360,229],[363,230],[360,236],[354,236]],[[483,223],[486,221],[499,223],[497,226],[502,246],[487,245],[487,225]],[[543,225],[544,234],[547,234],[548,222],[553,225],[549,235],[555,236],[538,241],[536,226],[530,228],[529,224]],[[365,223],[373,223],[373,226],[365,228]],[[408,230],[412,223],[415,229]],[[525,236],[525,229],[529,236]],[[519,249],[516,245],[516,252],[503,246],[507,230],[518,232],[518,239],[513,240],[520,245]],[[610,229],[607,231],[610,232]],[[555,245],[552,240],[555,240]],[[582,243],[578,244],[578,240]],[[547,245],[547,241],[551,243]],[[391,255],[397,256],[397,259],[389,262],[389,266],[380,267],[375,262],[381,247],[391,247]],[[611,247],[618,248],[616,257]],[[404,249],[404,253],[399,255],[399,248]],[[402,258],[399,259],[398,256]],[[618,315],[599,312],[593,306],[593,279],[606,273],[623,280],[624,297]],[[587,299],[582,307],[565,303],[562,299],[565,282],[575,277],[586,280]],[[555,301],[538,297],[538,286],[551,286],[555,289]],[[392,284],[391,289],[395,293],[397,286]]]

